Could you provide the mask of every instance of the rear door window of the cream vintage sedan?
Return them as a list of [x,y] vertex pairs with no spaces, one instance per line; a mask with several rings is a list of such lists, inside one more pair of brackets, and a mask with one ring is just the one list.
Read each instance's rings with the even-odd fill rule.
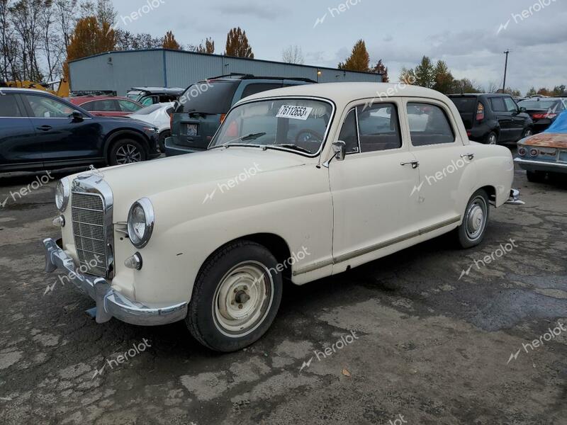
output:
[[408,103],[408,121],[413,146],[439,145],[455,141],[449,119],[437,105]]

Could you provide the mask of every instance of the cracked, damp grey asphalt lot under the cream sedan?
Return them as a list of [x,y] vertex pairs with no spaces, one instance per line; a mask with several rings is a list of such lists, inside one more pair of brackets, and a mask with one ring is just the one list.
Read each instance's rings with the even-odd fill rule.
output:
[[567,181],[517,171],[526,205],[492,209],[481,246],[442,237],[286,286],[268,334],[218,354],[183,323],[88,317],[43,272],[55,182],[11,198],[33,179],[0,177],[3,424],[567,424]]

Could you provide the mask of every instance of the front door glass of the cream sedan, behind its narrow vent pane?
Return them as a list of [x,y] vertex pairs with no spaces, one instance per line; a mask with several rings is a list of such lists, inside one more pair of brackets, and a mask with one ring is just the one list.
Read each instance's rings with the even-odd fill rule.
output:
[[402,147],[398,111],[393,103],[358,106],[360,152]]

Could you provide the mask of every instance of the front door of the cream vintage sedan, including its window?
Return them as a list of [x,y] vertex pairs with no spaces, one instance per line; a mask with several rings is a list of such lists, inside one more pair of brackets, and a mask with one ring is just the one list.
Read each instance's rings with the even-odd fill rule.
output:
[[338,140],[344,161],[329,164],[334,208],[333,273],[378,258],[377,251],[411,237],[418,204],[415,157],[400,132],[400,101],[352,105]]

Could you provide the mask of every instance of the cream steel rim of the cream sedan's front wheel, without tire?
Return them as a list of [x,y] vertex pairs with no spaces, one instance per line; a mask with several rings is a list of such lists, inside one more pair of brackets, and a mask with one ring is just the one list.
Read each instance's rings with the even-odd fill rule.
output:
[[256,329],[269,312],[274,283],[261,263],[233,267],[220,281],[213,298],[215,324],[223,334],[243,336]]

